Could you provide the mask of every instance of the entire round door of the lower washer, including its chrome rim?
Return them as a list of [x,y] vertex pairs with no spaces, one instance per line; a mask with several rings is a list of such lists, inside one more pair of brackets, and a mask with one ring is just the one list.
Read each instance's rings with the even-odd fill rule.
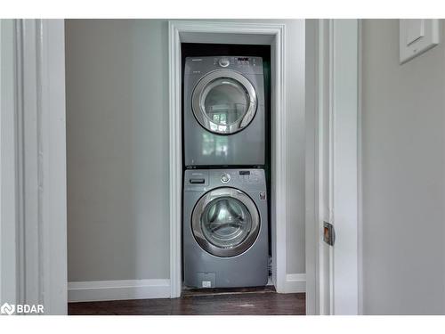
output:
[[216,257],[235,257],[250,248],[260,232],[254,201],[235,188],[218,188],[202,196],[191,216],[198,244]]

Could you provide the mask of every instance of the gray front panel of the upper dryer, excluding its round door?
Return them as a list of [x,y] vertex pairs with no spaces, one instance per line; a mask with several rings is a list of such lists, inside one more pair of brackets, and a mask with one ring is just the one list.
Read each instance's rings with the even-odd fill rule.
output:
[[[235,57],[236,58],[236,57]],[[250,57],[252,58],[252,57]],[[187,58],[184,74],[184,164],[185,166],[261,166],[265,161],[265,109],[263,62],[256,57],[252,64],[231,64],[222,68],[214,64],[214,57]],[[216,61],[217,63],[217,61]],[[256,94],[255,113],[244,120],[242,126],[233,126],[233,134],[215,134],[206,129],[206,118],[202,115],[201,125],[192,109],[192,95],[195,86],[207,73],[221,70],[230,71],[233,76],[245,77]],[[220,73],[222,73],[220,72]],[[246,84],[246,86],[248,86]],[[197,109],[197,108],[195,108]],[[199,109],[199,107],[198,107]],[[197,109],[197,110],[198,110]],[[198,113],[199,114],[199,113]],[[207,127],[210,127],[208,124]],[[242,131],[235,131],[235,128]]]

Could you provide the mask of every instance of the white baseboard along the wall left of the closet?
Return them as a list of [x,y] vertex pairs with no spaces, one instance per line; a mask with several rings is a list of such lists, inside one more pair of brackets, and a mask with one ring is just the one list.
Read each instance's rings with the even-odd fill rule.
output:
[[169,298],[170,280],[70,281],[69,302]]

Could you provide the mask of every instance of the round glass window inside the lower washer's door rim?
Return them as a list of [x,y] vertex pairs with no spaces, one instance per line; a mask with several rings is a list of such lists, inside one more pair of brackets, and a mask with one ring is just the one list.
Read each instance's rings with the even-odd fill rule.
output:
[[252,216],[247,207],[231,197],[212,200],[201,216],[201,231],[218,248],[238,246],[252,230]]

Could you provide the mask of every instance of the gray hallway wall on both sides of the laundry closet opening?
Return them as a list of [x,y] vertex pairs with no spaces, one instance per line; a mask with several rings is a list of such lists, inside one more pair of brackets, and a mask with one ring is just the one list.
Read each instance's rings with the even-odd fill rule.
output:
[[[304,273],[304,35],[284,22],[287,273]],[[67,20],[66,45],[69,281],[168,278],[167,20]]]

